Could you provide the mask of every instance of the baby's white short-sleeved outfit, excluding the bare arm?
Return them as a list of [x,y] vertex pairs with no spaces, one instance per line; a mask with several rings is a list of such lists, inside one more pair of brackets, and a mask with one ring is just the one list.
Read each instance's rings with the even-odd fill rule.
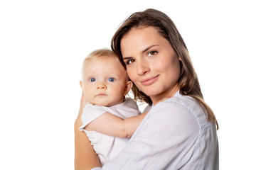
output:
[[86,125],[106,112],[117,115],[122,119],[141,114],[137,103],[132,98],[126,98],[124,102],[110,107],[92,105],[91,103],[85,105],[80,130],[86,133],[102,165],[116,157],[129,141],[129,138],[113,137],[84,129]]

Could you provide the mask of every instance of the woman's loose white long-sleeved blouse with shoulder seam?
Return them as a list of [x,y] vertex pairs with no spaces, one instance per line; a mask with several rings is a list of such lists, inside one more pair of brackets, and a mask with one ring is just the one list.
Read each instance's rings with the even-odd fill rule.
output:
[[215,125],[195,99],[178,91],[151,108],[127,146],[102,169],[218,169],[218,164]]

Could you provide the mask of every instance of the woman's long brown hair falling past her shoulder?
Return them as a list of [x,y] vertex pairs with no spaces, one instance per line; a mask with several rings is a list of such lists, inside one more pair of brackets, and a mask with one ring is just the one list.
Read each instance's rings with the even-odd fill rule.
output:
[[[218,122],[213,111],[203,100],[203,94],[201,92],[198,77],[196,75],[195,69],[193,68],[186,44],[183,41],[180,33],[178,33],[178,29],[174,25],[174,22],[171,21],[171,18],[169,18],[169,16],[167,16],[165,13],[151,8],[142,12],[132,13],[132,15],[122,23],[117,32],[114,34],[111,41],[112,50],[116,52],[119,60],[125,67],[125,64],[122,60],[122,52],[120,47],[122,38],[132,28],[145,28],[148,26],[156,28],[156,30],[158,30],[158,32],[170,42],[171,47],[174,48],[178,54],[178,57],[181,59],[181,75],[178,79],[180,94],[195,98],[196,101],[200,103],[204,111],[206,111],[208,121],[215,123],[218,128]],[[149,103],[149,105],[152,104],[151,98],[140,91],[137,86],[135,86],[135,84],[132,87],[132,92],[134,93],[135,99],[139,101],[145,101],[146,103]]]

